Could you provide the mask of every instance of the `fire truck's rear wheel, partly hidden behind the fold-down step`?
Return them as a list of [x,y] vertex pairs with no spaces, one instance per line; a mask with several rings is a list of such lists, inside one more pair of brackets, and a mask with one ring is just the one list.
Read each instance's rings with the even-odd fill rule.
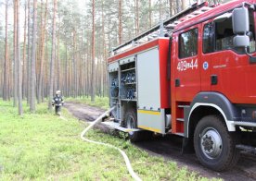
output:
[[[127,128],[137,128],[137,116],[134,110],[129,110],[125,114],[125,124]],[[132,142],[138,142],[150,139],[152,137],[152,132],[150,131],[135,131],[128,133],[129,139]]]

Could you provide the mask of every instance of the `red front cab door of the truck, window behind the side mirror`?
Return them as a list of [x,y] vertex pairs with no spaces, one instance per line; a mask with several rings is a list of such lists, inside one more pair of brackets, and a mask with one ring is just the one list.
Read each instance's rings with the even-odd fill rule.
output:
[[[250,47],[255,56],[255,12],[250,16]],[[224,94],[232,103],[253,103],[255,96],[256,65],[251,64],[244,48],[233,45],[235,34],[232,18],[215,22],[214,52],[211,54],[211,90]]]

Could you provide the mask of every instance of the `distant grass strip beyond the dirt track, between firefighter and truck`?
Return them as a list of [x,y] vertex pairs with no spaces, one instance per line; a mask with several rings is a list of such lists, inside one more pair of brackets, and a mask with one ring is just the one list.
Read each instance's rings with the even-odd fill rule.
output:
[[74,103],[85,103],[87,105],[91,105],[91,106],[95,106],[95,107],[99,107],[102,109],[109,109],[109,97],[97,97],[96,96],[96,100],[95,103],[91,102],[91,98],[90,97],[80,97],[80,98],[66,98],[65,99],[66,102],[74,102]]

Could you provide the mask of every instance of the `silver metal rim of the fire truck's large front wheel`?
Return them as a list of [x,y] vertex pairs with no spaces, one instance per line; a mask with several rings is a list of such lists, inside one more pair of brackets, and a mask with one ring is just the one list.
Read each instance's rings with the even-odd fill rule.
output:
[[200,147],[207,158],[217,158],[223,151],[223,140],[219,132],[213,127],[205,128],[200,134]]

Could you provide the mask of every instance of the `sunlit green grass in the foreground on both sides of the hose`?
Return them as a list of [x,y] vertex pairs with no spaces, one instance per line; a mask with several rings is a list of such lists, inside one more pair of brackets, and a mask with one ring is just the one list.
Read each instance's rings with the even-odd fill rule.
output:
[[[118,151],[83,142],[86,127],[63,109],[67,121],[48,113],[46,104],[19,116],[12,103],[0,101],[0,180],[133,180]],[[89,139],[126,151],[143,180],[208,180],[186,167],[148,155],[129,141],[91,130]]]

